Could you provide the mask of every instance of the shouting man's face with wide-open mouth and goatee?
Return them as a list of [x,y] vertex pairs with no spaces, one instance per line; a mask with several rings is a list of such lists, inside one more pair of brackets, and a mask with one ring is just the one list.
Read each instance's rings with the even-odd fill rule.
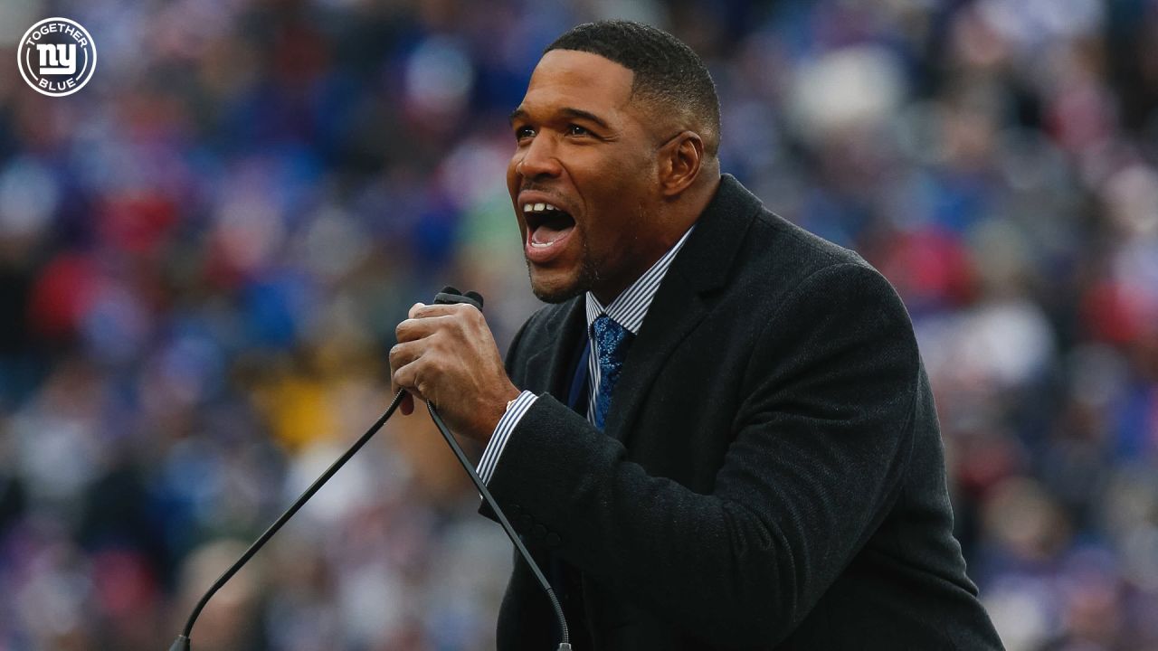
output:
[[589,290],[606,303],[670,244],[653,210],[659,142],[632,105],[632,76],[598,54],[552,50],[512,114],[507,189],[544,301]]

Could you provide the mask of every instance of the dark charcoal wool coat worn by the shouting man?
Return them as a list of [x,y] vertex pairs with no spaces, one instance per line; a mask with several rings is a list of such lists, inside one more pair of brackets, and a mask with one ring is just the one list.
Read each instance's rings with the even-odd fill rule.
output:
[[[952,535],[911,323],[859,256],[725,176],[606,433],[564,404],[582,306],[540,310],[512,343],[512,380],[541,397],[489,488],[542,564],[580,572],[569,620],[589,650],[1001,649]],[[516,561],[498,646],[557,643]]]

